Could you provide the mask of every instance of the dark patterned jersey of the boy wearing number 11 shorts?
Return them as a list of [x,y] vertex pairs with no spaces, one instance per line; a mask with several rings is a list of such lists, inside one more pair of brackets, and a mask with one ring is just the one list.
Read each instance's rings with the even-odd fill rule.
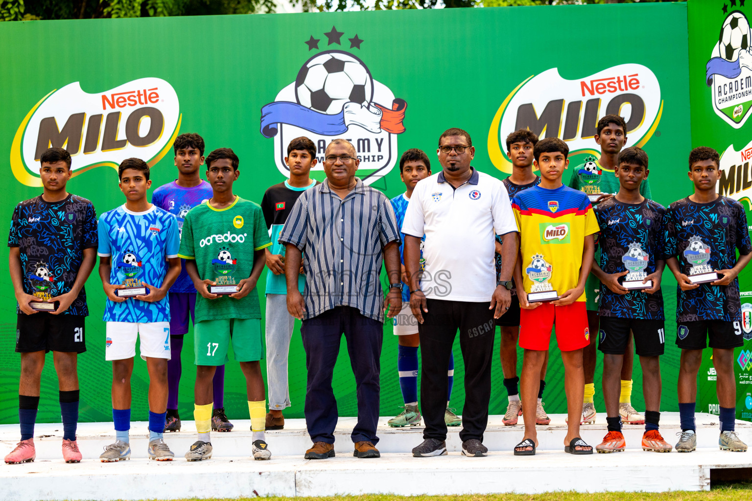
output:
[[[647,200],[641,204],[623,204],[615,197],[593,208],[601,229],[598,246],[599,266],[605,273],[623,273],[633,261],[645,261],[644,273],[655,273],[657,261],[664,259],[666,207]],[[641,320],[663,320],[663,294],[629,291],[615,294],[600,289],[599,315]]]

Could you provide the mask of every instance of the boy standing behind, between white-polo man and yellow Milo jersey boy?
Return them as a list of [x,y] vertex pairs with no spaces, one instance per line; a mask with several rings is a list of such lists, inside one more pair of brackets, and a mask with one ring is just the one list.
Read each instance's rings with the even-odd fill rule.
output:
[[[532,172],[532,150],[538,143],[535,132],[521,128],[507,136],[507,156],[512,161],[512,174],[502,180],[509,194],[509,200],[517,193],[537,186],[541,177]],[[496,235],[496,275],[502,271],[502,238]],[[502,419],[505,426],[517,424],[518,416],[522,415],[520,403],[520,378],[517,376],[517,339],[520,337],[520,300],[517,290],[511,285],[511,299],[509,310],[501,318],[496,318],[496,326],[502,329],[502,342],[499,348],[499,358],[502,359],[502,373],[504,387],[507,390],[509,403],[507,412]],[[538,405],[535,412],[535,424],[546,425],[551,422],[543,410],[543,389],[546,387],[546,369],[548,367],[548,352],[541,367],[541,388],[538,390]]]

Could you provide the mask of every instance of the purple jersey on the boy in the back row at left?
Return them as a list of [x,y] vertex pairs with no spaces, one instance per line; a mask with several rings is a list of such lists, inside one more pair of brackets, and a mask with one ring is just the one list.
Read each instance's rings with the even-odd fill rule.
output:
[[[183,219],[185,219],[188,211],[201,204],[202,201],[211,198],[211,193],[211,185],[204,180],[201,181],[199,186],[191,188],[179,186],[173,181],[155,189],[151,196],[151,203],[160,209],[166,210],[168,213],[174,214],[177,219],[177,229],[182,234]],[[190,279],[186,271],[185,261],[183,260],[181,264],[180,275],[177,276],[177,280],[172,284],[170,292],[196,294],[193,280]]]

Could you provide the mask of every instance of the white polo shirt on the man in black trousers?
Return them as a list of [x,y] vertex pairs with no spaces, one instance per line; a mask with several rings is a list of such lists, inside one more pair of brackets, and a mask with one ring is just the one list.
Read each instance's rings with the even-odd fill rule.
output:
[[496,289],[494,237],[512,231],[517,223],[504,183],[475,169],[456,189],[443,171],[420,180],[402,224],[406,235],[426,235],[423,294],[474,303],[491,300]]

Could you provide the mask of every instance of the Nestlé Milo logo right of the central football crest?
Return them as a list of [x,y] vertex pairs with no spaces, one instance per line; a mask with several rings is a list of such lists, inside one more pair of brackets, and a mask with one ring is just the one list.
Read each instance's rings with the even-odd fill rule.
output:
[[558,68],[550,68],[523,80],[504,98],[491,121],[488,154],[499,171],[511,173],[511,160],[505,154],[506,136],[527,128],[541,139],[566,140],[570,156],[599,155],[593,149],[596,125],[611,113],[626,119],[629,143],[624,146],[642,147],[653,137],[663,101],[660,84],[650,68],[627,63],[574,80],[566,80]]

